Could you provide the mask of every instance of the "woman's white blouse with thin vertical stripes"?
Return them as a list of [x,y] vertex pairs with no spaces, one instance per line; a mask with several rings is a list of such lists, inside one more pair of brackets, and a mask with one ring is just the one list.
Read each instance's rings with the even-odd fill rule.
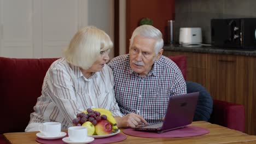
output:
[[44,77],[42,95],[30,115],[30,124],[60,122],[62,128],[67,129],[77,113],[94,107],[123,116],[114,97],[113,85],[113,72],[107,64],[86,79],[79,67],[68,64],[65,58],[57,59]]

